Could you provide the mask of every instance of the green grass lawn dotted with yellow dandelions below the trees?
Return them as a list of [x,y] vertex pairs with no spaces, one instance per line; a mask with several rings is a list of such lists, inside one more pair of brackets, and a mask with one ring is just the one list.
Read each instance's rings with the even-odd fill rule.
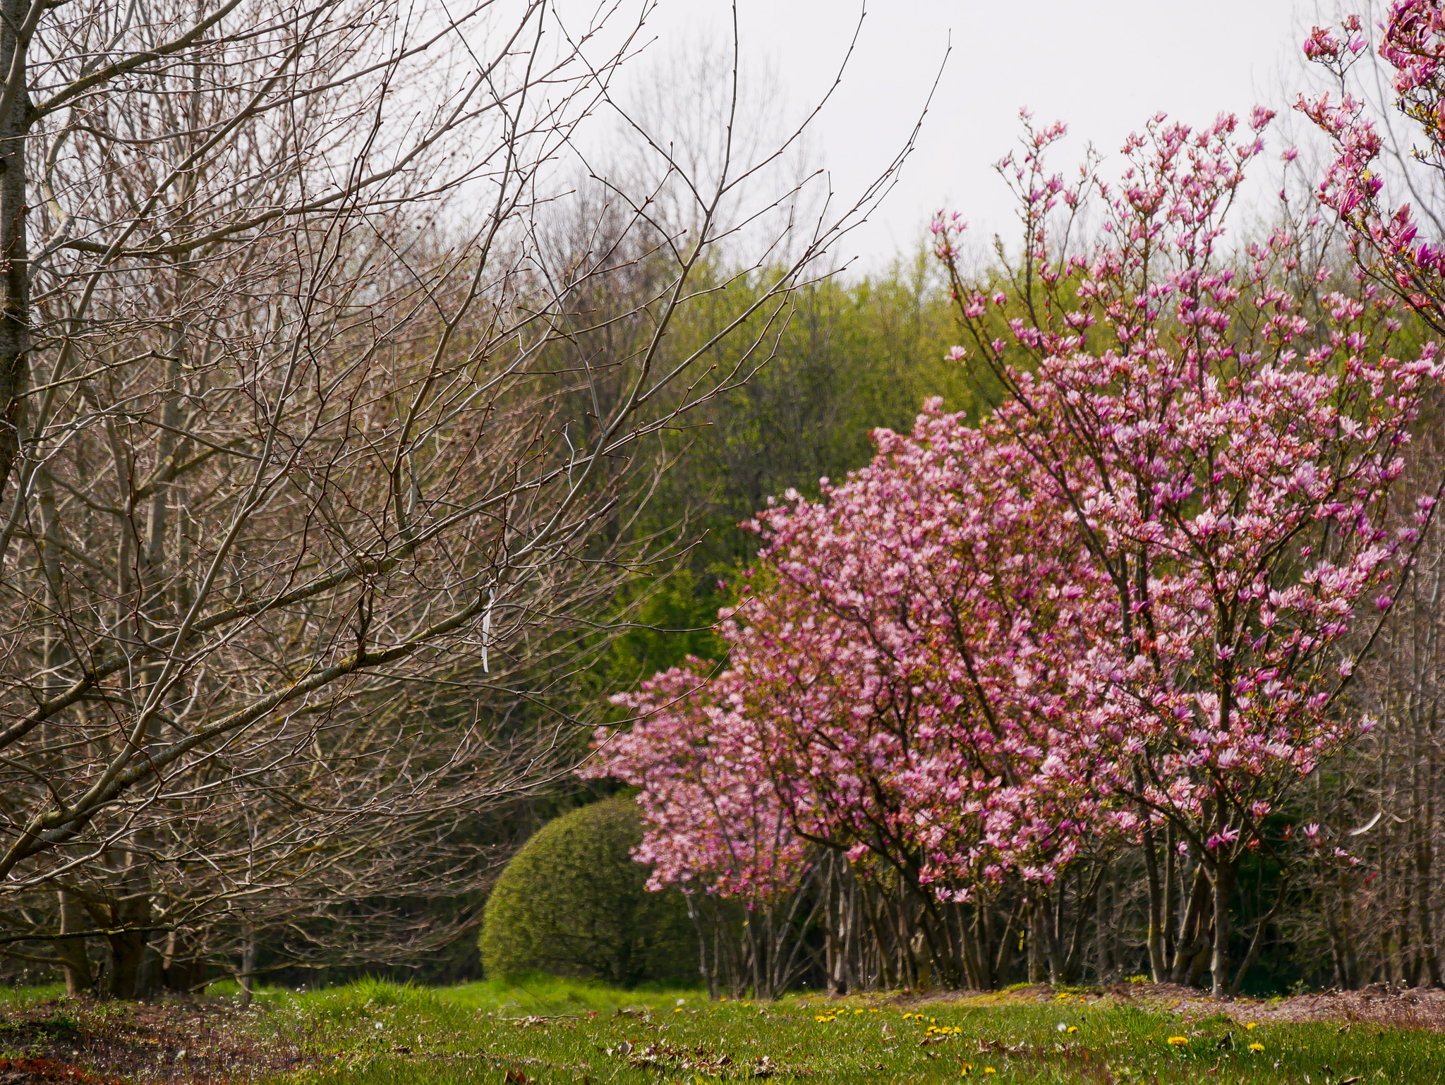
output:
[[[1403,1082],[1445,1085],[1445,1034],[1260,1023],[1077,994],[1049,1003],[789,997],[709,1003],[536,981],[445,990],[361,982],[264,997],[249,1027],[303,1046],[301,1085],[773,1078],[818,1082]],[[319,1058],[316,1058],[319,1056]],[[308,1059],[311,1060],[311,1059]]]

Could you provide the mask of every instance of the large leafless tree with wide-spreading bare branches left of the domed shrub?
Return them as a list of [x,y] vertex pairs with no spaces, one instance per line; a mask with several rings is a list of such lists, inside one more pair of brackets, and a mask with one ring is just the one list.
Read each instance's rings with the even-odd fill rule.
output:
[[[4,3],[7,952],[130,995],[249,977],[257,930],[344,949],[571,766],[656,438],[889,175],[805,221],[801,129],[744,160],[736,108],[707,170],[630,114],[656,169],[587,166],[617,6]],[[679,348],[763,215],[747,305]]]

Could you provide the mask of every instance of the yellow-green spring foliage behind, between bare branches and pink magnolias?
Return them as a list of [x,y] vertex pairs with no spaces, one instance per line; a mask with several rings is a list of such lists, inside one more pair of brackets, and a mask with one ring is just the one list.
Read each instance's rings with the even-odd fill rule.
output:
[[[757,289],[750,277],[720,288],[673,329],[670,355],[702,348]],[[715,397],[668,436],[669,468],[631,526],[640,537],[673,540],[678,561],[660,562],[614,601],[613,620],[629,628],[594,672],[598,696],[689,654],[722,659],[711,626],[759,545],[740,523],[770,497],[789,488],[816,496],[821,477],[842,481],[873,458],[876,428],[910,429],[929,396],[978,415],[984,400],[972,379],[944,357],[955,337],[926,253],[883,275],[815,283],[772,324],[764,314],[746,322],[740,341],[757,342],[756,353],[741,370],[736,350],[717,353]]]

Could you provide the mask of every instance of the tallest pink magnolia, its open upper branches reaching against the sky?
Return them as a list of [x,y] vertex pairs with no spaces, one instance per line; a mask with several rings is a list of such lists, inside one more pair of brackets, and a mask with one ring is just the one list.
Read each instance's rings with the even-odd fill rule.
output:
[[[1085,597],[1075,660],[1110,786],[1137,810],[1162,949],[1157,831],[1198,858],[1175,975],[1212,899],[1212,982],[1231,990],[1230,899],[1246,848],[1283,795],[1368,727],[1340,709],[1345,634],[1390,605],[1432,503],[1392,519],[1433,345],[1389,353],[1394,298],[1364,282],[1306,316],[1287,228],[1244,251],[1224,222],[1270,114],[1204,130],[1156,117],[1116,185],[1045,165],[1062,126],[1026,120],[1000,169],[1022,201],[1007,290],[959,270],[957,220],[935,222],[972,364],[1003,389],[983,426],[1022,449],[1105,589]],[[1087,199],[1101,240],[1069,235]],[[1078,251],[1075,251],[1078,248]],[[1303,280],[1303,282],[1302,282]],[[955,348],[957,357],[964,357]],[[1088,751],[1075,770],[1101,771]],[[1264,922],[1267,922],[1269,916]],[[1264,922],[1243,967],[1259,949]]]

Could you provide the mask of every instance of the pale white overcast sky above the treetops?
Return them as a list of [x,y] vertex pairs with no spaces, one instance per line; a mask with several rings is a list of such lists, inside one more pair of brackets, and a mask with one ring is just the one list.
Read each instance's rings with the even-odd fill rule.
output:
[[[1155,111],[1191,123],[1221,110],[1279,105],[1299,87],[1303,0],[870,0],[844,84],[814,150],[840,192],[860,189],[907,136],[944,62],[918,150],[881,212],[844,254],[864,267],[912,251],[931,212],[958,209],[983,234],[1010,231],[1012,205],[990,163],[1017,136],[1017,110],[1066,120],[1072,165],[1085,140],[1113,153]],[[1361,3],[1361,6],[1364,6]],[[743,51],[776,72],[793,110],[832,81],[858,0],[738,0]],[[727,0],[662,0],[652,51],[730,40]]]

